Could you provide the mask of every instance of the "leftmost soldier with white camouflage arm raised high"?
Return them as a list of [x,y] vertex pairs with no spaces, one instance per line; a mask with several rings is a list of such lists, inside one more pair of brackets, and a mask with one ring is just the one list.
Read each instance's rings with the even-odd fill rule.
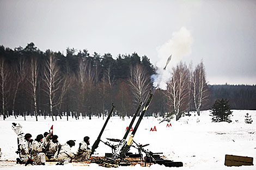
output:
[[22,164],[22,163],[33,163],[31,159],[29,158],[29,155],[31,153],[31,134],[24,135],[22,132],[22,125],[19,123],[12,123],[11,129],[14,130],[14,132],[17,134],[18,137],[18,151],[16,152],[19,154],[20,158],[17,158],[16,163]]

